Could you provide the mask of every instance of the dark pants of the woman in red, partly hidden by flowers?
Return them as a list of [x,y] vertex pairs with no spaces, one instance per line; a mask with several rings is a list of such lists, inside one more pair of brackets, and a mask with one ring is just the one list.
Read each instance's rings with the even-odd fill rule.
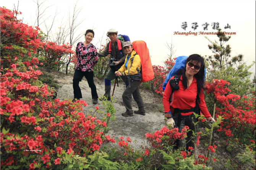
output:
[[[185,127],[185,126],[188,126],[189,129],[191,131],[189,131],[187,133],[187,136],[186,138],[184,138],[183,140],[177,140],[175,143],[176,143],[176,148],[182,148],[182,147],[186,147],[186,150],[188,150],[188,147],[191,146],[194,148],[194,139],[192,140],[192,136],[193,136],[193,132],[192,130],[195,132],[195,130],[197,130],[198,128],[195,127],[195,125],[193,124],[196,123],[198,121],[198,119],[196,119],[194,117],[194,114],[191,114],[191,115],[187,115],[187,116],[182,116],[180,115],[180,118],[179,118],[179,113],[175,113],[173,114],[173,120],[175,122],[175,126],[179,129],[179,132],[181,133],[181,130]],[[179,120],[179,121],[178,121]],[[196,133],[196,132],[195,132]]]

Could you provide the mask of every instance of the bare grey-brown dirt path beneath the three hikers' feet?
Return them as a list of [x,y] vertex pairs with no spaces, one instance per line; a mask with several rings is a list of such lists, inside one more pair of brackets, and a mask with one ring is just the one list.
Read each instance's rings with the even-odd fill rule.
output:
[[[57,90],[57,98],[60,100],[73,99],[73,77],[62,74],[60,72],[51,72],[55,79],[58,81],[60,87]],[[104,95],[105,85],[104,80],[94,79],[98,96]],[[101,111],[104,110],[104,106],[101,101],[98,104],[92,104],[91,88],[85,78],[79,83],[82,91],[83,100],[88,104],[84,107],[84,113],[89,113],[90,110],[95,110],[98,106]],[[111,87],[111,94],[113,91],[113,83]],[[124,138],[130,137],[131,140],[136,140],[136,143],[131,143],[134,149],[138,149],[140,145],[147,145],[145,133],[154,133],[156,130],[160,130],[164,127],[164,114],[158,111],[159,105],[162,103],[162,99],[154,95],[153,93],[140,88],[141,96],[143,98],[144,106],[146,109],[146,115],[137,115],[131,117],[123,117],[122,113],[126,111],[123,105],[122,94],[125,90],[125,84],[119,83],[119,87],[115,87],[114,98],[116,101],[113,103],[116,109],[116,121],[110,123],[111,129],[107,133],[110,136],[115,136],[115,140],[118,140],[120,136]],[[138,106],[134,99],[132,99],[133,110],[138,110]]]

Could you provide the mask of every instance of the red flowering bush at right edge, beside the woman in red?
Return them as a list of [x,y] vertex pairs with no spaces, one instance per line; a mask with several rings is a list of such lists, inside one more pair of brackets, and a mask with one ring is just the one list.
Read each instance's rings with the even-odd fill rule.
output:
[[213,80],[206,83],[206,93],[213,96],[219,102],[216,106],[216,117],[221,115],[224,119],[220,123],[219,132],[225,132],[228,137],[233,136],[234,128],[245,130],[245,127],[253,130],[256,124],[255,93],[254,96],[243,96],[228,94],[229,82],[225,80]]

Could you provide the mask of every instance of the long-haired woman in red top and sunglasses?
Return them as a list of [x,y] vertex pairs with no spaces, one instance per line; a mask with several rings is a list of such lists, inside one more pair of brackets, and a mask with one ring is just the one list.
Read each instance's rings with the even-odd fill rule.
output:
[[[173,91],[170,83],[168,82],[164,90],[163,104],[165,117],[167,117],[167,123],[172,127],[176,125],[179,128],[179,132],[188,126],[190,130],[195,130],[193,122],[198,121],[193,112],[198,113],[199,109],[205,115],[207,122],[215,122],[208,112],[206,103],[204,101],[204,58],[198,54],[190,55],[186,59],[186,67],[183,71],[178,73],[180,75],[180,81],[178,83],[179,89]],[[172,81],[174,76],[169,80]],[[199,99],[196,99],[198,96]],[[171,103],[169,102],[169,99]],[[194,143],[191,140],[192,131],[188,132],[186,141],[180,140],[177,142],[178,148],[194,147]]]

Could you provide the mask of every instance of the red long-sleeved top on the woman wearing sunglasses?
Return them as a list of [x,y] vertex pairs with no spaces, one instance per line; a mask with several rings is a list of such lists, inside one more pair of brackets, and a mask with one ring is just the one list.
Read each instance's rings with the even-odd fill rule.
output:
[[[173,79],[174,76],[171,78]],[[170,80],[169,80],[170,81]],[[184,109],[192,109],[193,107],[196,107],[196,95],[197,95],[197,83],[196,83],[196,78],[194,77],[193,82],[191,83],[190,87],[184,90],[184,86],[182,84],[182,75],[180,77],[180,82],[179,82],[179,90],[175,90],[173,92],[173,102],[171,104],[171,108],[170,108],[170,103],[169,103],[169,99],[171,97],[172,94],[172,87],[170,86],[169,82],[167,83],[165,90],[164,90],[164,95],[163,95],[163,104],[164,104],[164,112],[169,112],[171,110],[171,112],[173,113],[175,108],[178,108],[180,110],[184,110]],[[203,93],[203,89],[200,91],[199,94],[199,99],[200,99],[200,104],[199,104],[199,108],[201,110],[201,112],[204,114],[204,116],[206,118],[211,117],[211,114],[209,113],[207,107],[206,107],[206,103],[204,101],[204,93]],[[193,112],[188,112],[188,113],[182,113],[181,115],[191,115],[193,114]]]

